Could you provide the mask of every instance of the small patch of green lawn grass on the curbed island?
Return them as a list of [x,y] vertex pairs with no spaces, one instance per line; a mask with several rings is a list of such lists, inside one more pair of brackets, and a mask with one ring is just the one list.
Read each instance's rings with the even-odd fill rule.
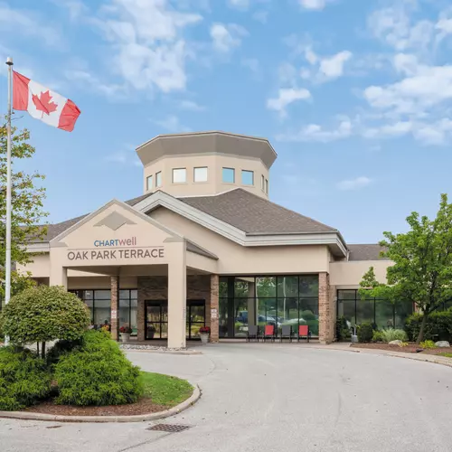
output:
[[151,398],[157,405],[174,407],[193,394],[193,386],[188,381],[162,373],[141,372],[140,380],[144,387],[143,396]]

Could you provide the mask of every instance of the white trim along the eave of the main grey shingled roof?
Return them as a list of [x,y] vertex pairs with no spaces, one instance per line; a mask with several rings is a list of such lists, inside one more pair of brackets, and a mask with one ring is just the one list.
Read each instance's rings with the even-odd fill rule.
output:
[[[235,189],[234,189],[235,190]],[[166,209],[194,221],[204,228],[232,240],[245,247],[279,246],[279,245],[333,245],[346,256],[346,248],[339,237],[339,233],[325,232],[319,234],[268,234],[268,235],[247,235],[231,224],[218,220],[205,212],[202,212],[180,200],[170,196],[165,192],[156,192],[143,201],[137,202],[134,208],[140,212],[147,213],[158,207]]]

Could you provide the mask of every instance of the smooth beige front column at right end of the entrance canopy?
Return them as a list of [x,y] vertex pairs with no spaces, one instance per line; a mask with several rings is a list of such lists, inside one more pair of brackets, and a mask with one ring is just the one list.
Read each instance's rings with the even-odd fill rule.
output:
[[[174,243],[176,246],[176,243]],[[177,255],[168,264],[168,347],[185,348],[187,317],[187,268],[185,241],[177,243]]]

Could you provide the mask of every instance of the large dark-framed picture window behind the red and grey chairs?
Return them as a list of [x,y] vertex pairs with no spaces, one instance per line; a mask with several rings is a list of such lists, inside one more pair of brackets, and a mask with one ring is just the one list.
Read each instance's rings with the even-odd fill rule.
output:
[[309,325],[318,335],[318,276],[220,278],[220,337],[246,337],[250,325]]

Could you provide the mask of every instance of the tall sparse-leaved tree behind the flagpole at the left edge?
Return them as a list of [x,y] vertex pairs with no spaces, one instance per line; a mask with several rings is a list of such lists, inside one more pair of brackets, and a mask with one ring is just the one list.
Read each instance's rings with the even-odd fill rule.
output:
[[[33,157],[34,147],[28,143],[30,133],[24,129],[12,127],[11,155],[13,163]],[[40,226],[47,216],[42,211],[45,188],[36,186],[42,174],[24,171],[12,171],[12,219],[11,219],[11,257],[12,261],[24,265],[33,260],[33,254],[27,252],[25,245],[29,241],[42,240],[46,228]],[[0,295],[5,296],[5,241],[6,241],[6,127],[0,126]],[[28,287],[31,282],[28,274],[12,272],[12,294],[16,290]]]

